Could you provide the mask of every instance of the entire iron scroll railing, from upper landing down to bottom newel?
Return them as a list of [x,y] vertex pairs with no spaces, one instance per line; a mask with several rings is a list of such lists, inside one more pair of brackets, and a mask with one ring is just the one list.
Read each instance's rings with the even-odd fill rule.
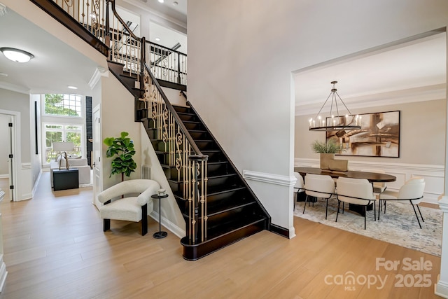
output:
[[[176,78],[175,83],[186,84],[186,55],[154,44],[150,44],[146,52],[146,39],[136,36],[120,18],[114,0],[48,1],[55,2],[109,46],[109,60],[123,64],[123,71],[137,76],[139,86],[136,88],[144,90],[144,97],[139,100],[148,109],[157,139],[165,145],[166,162],[170,167],[176,167],[183,186],[181,195],[188,200],[186,235],[192,244],[205,241],[208,157],[201,153],[151,72],[160,74],[162,80]],[[146,64],[148,53],[152,57],[150,66]]]

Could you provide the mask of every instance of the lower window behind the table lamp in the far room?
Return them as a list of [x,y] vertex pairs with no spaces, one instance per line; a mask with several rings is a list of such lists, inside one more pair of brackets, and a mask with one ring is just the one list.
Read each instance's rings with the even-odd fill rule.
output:
[[57,158],[57,152],[52,149],[53,142],[73,142],[75,144],[73,155],[83,155],[83,126],[82,125],[65,125],[55,123],[43,124],[43,134],[45,136],[45,158],[44,161],[49,163],[50,160]]

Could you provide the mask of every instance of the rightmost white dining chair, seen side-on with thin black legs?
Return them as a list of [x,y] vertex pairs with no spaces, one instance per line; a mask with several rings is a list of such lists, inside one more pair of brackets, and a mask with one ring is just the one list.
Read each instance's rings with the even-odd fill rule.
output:
[[[424,190],[425,190],[425,179],[419,176],[415,176],[412,179],[407,180],[405,184],[401,186],[398,192],[391,190],[384,191],[379,195],[379,202],[381,202],[381,200],[384,201],[384,214],[386,214],[386,202],[388,200],[395,200],[402,204],[406,203],[411,204],[412,209],[414,209],[414,214],[421,228],[419,216],[417,215],[415,207],[417,207],[417,209],[419,210],[421,221],[425,222],[423,216],[421,215],[419,207],[419,203],[423,200]],[[378,220],[379,220],[379,211],[378,211]]]

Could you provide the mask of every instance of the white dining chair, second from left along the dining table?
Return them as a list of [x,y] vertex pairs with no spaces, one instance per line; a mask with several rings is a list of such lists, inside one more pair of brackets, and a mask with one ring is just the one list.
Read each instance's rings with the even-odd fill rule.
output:
[[321,197],[326,200],[325,205],[325,219],[328,215],[328,200],[335,195],[335,181],[331,176],[325,176],[321,174],[307,174],[305,176],[305,204],[303,207],[303,214],[307,207],[309,197]]

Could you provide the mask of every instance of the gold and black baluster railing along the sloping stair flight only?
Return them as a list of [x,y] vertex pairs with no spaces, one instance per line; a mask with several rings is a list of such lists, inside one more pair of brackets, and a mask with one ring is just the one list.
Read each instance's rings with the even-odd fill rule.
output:
[[181,118],[167,99],[160,84],[149,70],[144,69],[144,85],[148,117],[153,120],[157,139],[165,144],[166,163],[176,167],[182,178],[183,198],[188,200],[187,236],[192,244],[207,239],[207,160]]

